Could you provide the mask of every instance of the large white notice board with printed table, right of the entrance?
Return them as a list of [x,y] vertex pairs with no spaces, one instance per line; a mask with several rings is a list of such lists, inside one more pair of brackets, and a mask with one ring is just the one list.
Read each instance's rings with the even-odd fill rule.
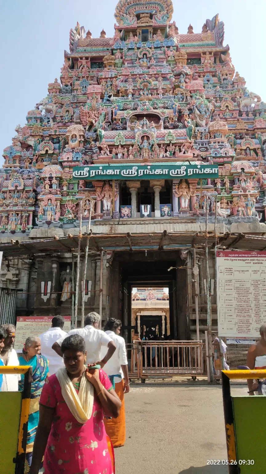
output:
[[266,323],[266,252],[217,251],[218,333],[259,337]]

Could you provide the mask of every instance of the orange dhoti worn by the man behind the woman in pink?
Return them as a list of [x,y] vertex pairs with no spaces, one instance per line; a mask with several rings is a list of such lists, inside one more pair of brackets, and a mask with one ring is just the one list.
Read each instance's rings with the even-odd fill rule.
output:
[[124,381],[115,383],[115,393],[122,402],[118,418],[104,419],[106,434],[114,447],[124,446],[125,442],[125,409],[124,409]]

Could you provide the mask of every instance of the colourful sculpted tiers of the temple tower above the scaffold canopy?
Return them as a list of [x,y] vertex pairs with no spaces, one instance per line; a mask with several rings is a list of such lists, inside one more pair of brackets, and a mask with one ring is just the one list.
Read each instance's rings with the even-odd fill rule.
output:
[[[179,32],[173,13],[171,0],[120,0],[112,38],[71,28],[60,80],[3,152],[2,241],[76,235],[80,217],[89,230],[90,214],[94,234],[124,225],[125,234],[151,225],[200,231],[206,207],[212,224],[216,205],[218,225],[266,231],[266,104],[235,72],[218,15],[194,33],[191,25]],[[23,276],[24,291],[37,289],[37,298],[19,299],[21,314],[70,314],[71,295],[61,300],[60,290],[72,257],[60,251],[35,264],[29,254],[16,274],[2,267],[6,286],[20,288]],[[88,310],[99,308],[99,275],[99,255],[89,255]],[[52,299],[38,287],[47,281]],[[104,318],[111,300],[106,290]]]

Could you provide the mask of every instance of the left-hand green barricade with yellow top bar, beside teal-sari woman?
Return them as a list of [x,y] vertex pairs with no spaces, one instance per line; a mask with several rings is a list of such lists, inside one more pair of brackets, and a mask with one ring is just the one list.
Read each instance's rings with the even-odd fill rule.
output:
[[0,366],[0,374],[25,374],[22,392],[0,392],[0,473],[23,474],[32,367]]

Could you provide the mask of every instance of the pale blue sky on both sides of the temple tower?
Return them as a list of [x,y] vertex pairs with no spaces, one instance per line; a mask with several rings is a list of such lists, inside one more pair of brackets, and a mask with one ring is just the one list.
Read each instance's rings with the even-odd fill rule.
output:
[[[25,124],[27,111],[46,97],[48,82],[59,80],[71,27],[79,21],[93,37],[99,37],[102,28],[113,36],[117,1],[0,0],[0,155],[11,145],[18,123]],[[225,23],[224,46],[230,46],[236,71],[245,77],[249,91],[266,101],[266,0],[173,0],[173,4],[180,33],[186,33],[190,23],[200,33],[206,18],[219,13]]]

